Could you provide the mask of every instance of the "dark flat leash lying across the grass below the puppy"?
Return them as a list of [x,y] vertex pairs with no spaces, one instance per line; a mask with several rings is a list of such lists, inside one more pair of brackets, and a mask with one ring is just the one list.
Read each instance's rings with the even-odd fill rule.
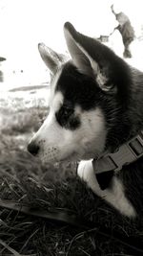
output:
[[123,244],[124,246],[128,247],[132,253],[134,252],[135,255],[143,255],[142,242],[138,238],[133,236],[124,236],[123,234],[120,234],[119,232],[116,232],[114,230],[110,230],[105,226],[99,226],[99,224],[97,225],[97,223],[94,223],[92,221],[82,220],[71,210],[65,210],[61,208],[43,210],[32,208],[30,206],[27,206],[26,204],[22,204],[16,201],[2,199],[0,199],[0,207],[7,208],[18,213],[23,213],[33,217],[43,218],[48,221],[70,224],[74,227],[82,229],[83,233],[85,234],[92,233],[93,231],[95,231],[96,234],[98,234],[101,237],[105,237],[110,240],[112,239],[112,241],[116,241],[120,244]]

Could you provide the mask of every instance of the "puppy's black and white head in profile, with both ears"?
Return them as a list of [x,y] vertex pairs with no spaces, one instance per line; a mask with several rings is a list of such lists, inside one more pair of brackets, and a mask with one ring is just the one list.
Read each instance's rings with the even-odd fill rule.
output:
[[28,150],[43,162],[90,159],[102,153],[112,128],[122,122],[128,94],[129,69],[122,59],[70,23],[64,32],[71,59],[39,44],[51,70],[50,113]]

